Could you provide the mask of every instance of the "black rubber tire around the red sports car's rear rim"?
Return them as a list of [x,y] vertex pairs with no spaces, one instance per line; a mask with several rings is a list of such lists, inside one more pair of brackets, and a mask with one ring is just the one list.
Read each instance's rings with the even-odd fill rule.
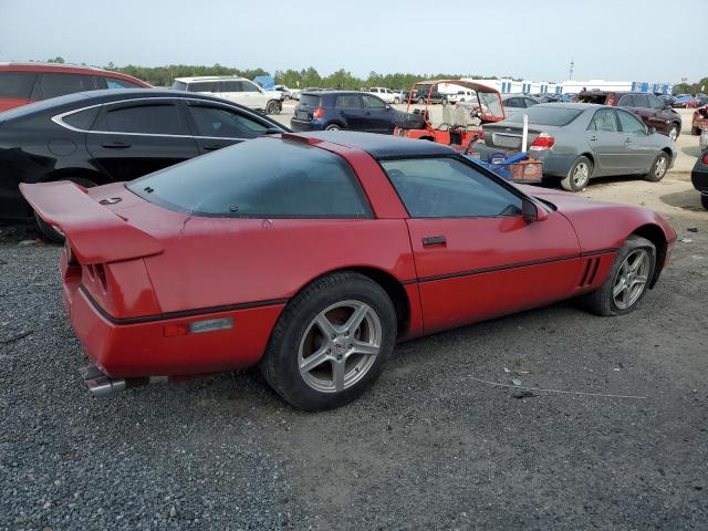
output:
[[[362,369],[362,376],[357,374],[358,369],[356,367],[358,365],[350,368],[350,373],[355,379],[348,387],[346,387],[348,384],[344,383],[344,387],[341,391],[319,391],[313,384],[305,381],[305,377],[309,376],[301,374],[300,348],[306,341],[311,341],[311,335],[309,334],[314,330],[313,326],[316,329],[315,332],[320,330],[314,324],[317,315],[332,305],[351,302],[366,304],[368,306],[367,311],[374,312],[378,320],[381,325],[381,329],[377,329],[379,339],[378,354],[374,356],[373,361],[367,362],[369,365]],[[334,311],[336,312],[337,310],[335,309]],[[343,320],[346,319],[348,317],[343,317]],[[360,329],[356,330],[358,331]],[[326,347],[325,341],[330,343],[321,334],[320,344],[315,348]],[[336,348],[346,348],[347,345],[340,344],[337,343],[339,341],[348,342],[351,340],[342,339],[339,335],[332,340],[332,344]],[[270,386],[292,406],[305,410],[330,409],[354,400],[376,381],[386,357],[394,348],[395,341],[396,312],[384,289],[363,274],[354,272],[333,273],[314,281],[285,306],[273,329],[266,354],[259,366]],[[345,374],[350,360],[353,360],[352,363],[357,362],[354,355],[350,355],[350,357],[345,355],[344,362],[336,362],[334,353],[342,352],[336,348],[327,350],[326,358],[315,366],[325,372],[330,367],[333,385],[336,363],[343,363],[344,372],[342,374]],[[331,352],[332,354],[330,354]],[[325,354],[322,355],[324,356]],[[336,354],[336,356],[337,360],[342,358],[342,354]],[[366,356],[362,356],[362,360]],[[351,364],[350,367],[352,367]],[[353,369],[356,371],[352,373]],[[306,375],[310,375],[312,371],[315,369],[310,369]]]

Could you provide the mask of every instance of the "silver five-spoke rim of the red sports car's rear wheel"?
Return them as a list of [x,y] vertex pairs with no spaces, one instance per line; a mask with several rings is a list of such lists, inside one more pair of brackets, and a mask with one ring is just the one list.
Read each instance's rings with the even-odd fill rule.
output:
[[305,329],[298,350],[302,379],[322,393],[354,386],[381,352],[383,329],[372,306],[343,301],[320,312]]

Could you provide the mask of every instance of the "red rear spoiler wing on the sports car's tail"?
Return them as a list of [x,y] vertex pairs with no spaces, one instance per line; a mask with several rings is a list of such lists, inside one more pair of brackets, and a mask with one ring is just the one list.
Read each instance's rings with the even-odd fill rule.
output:
[[74,183],[22,183],[20,191],[40,218],[65,235],[80,263],[117,262],[164,250],[154,237],[98,205]]

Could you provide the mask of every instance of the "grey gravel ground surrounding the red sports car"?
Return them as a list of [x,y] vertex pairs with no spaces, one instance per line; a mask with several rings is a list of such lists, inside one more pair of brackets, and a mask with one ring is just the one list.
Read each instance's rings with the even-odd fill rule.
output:
[[[91,398],[59,248],[2,229],[0,529],[705,530],[708,212],[689,188],[587,190],[691,240],[638,311],[562,303],[405,343],[323,414],[256,372]],[[480,382],[517,377],[633,397]]]

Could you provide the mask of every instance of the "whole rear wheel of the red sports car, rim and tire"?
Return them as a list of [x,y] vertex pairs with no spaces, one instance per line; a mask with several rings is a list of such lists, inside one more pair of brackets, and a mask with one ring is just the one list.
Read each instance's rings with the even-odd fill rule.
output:
[[260,368],[291,405],[329,409],[378,377],[395,341],[396,312],[383,288],[358,273],[329,274],[288,304]]

